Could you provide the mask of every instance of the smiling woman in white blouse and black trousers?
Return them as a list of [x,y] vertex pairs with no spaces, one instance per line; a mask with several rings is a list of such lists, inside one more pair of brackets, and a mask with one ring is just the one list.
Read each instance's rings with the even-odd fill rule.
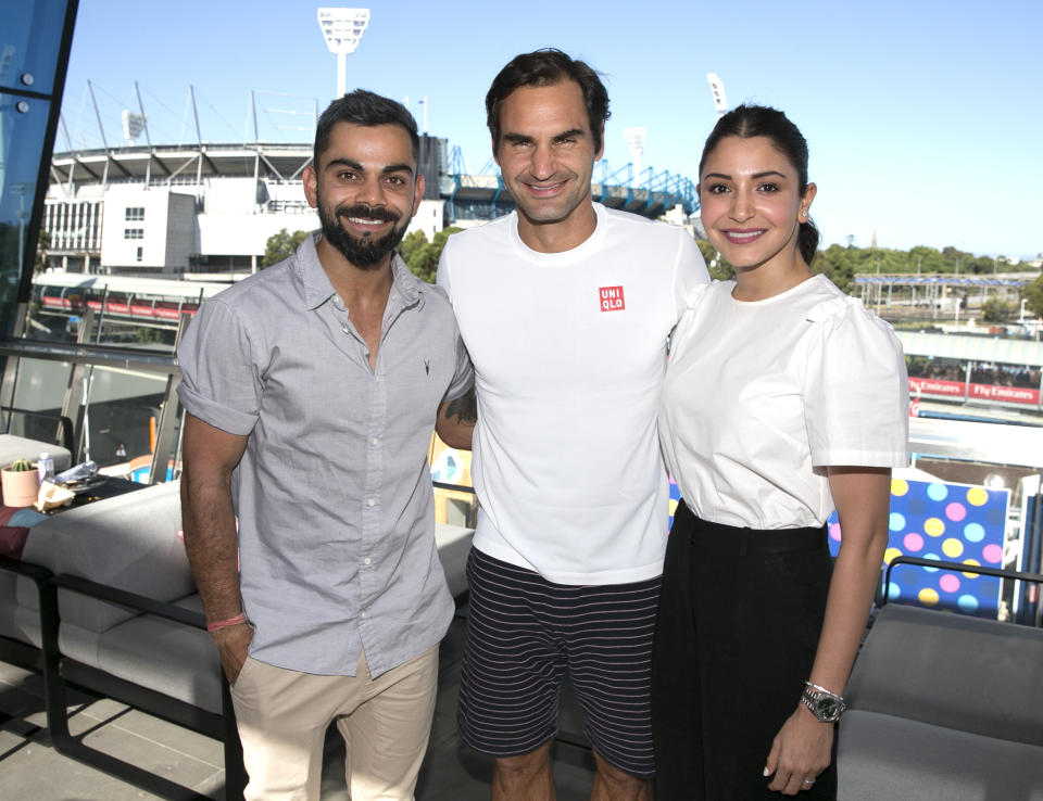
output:
[[721,117],[699,175],[736,280],[700,287],[670,339],[659,432],[683,503],[653,656],[657,794],[835,799],[841,694],[907,463],[902,347],[812,272],[816,188],[784,114]]

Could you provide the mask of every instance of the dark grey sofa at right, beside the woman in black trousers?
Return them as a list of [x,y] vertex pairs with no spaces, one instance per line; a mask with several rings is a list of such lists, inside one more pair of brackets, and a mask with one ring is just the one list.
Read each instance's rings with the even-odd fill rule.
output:
[[1043,801],[1043,630],[888,603],[845,695],[841,801]]

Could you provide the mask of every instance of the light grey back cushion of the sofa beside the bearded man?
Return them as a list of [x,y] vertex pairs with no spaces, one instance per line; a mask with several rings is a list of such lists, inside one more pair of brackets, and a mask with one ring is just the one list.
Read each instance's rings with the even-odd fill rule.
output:
[[[156,484],[48,518],[33,527],[22,559],[55,575],[81,576],[173,601],[196,592],[177,536],[180,527],[178,483]],[[23,577],[17,600],[28,609],[38,608],[35,587]],[[59,612],[63,625],[98,633],[138,614],[67,590],[59,590]]]

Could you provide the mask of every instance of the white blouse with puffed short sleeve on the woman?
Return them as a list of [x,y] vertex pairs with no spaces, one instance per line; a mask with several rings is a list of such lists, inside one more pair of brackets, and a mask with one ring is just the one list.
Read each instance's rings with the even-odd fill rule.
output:
[[751,529],[821,525],[827,466],[908,463],[891,327],[825,276],[764,301],[698,288],[670,338],[659,435],[686,504]]

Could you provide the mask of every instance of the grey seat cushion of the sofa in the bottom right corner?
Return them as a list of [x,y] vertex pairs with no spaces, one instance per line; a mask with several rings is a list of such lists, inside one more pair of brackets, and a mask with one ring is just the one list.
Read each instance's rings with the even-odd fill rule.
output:
[[1043,748],[877,712],[840,719],[838,801],[1043,801]]

